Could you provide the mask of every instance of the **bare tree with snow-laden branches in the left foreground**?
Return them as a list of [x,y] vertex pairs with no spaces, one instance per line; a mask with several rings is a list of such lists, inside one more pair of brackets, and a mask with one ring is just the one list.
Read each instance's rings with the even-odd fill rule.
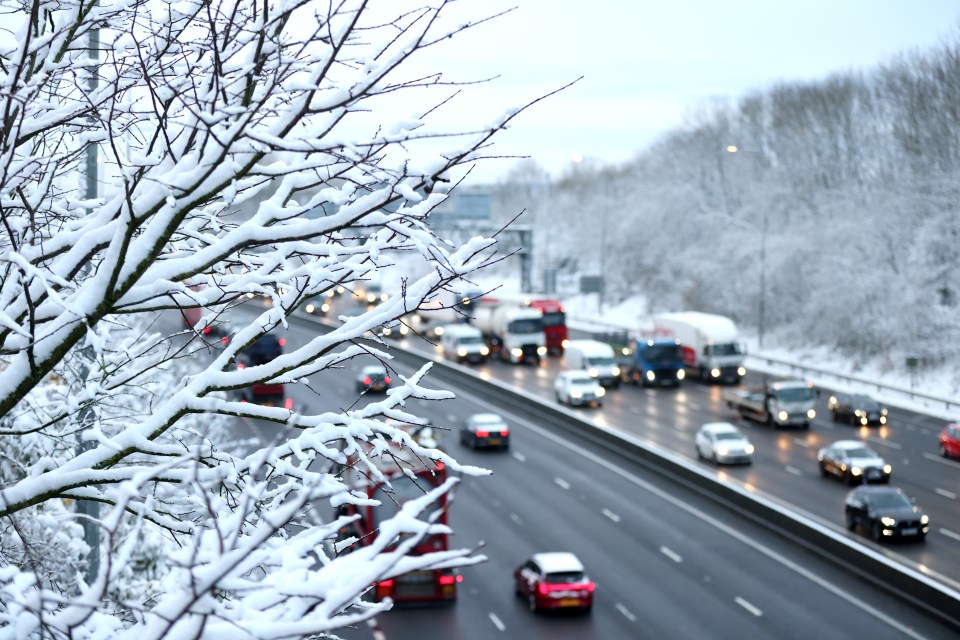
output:
[[[333,507],[361,500],[330,465],[365,443],[483,473],[383,420],[450,396],[428,368],[337,414],[234,392],[389,360],[362,339],[495,259],[491,240],[437,237],[430,212],[525,107],[444,130],[431,115],[462,84],[406,70],[496,16],[447,18],[443,0],[0,5],[0,638],[315,637],[387,606],[362,599],[377,580],[479,561],[390,552],[438,530],[429,500],[364,554],[325,551],[345,524]],[[429,267],[403,295],[237,367],[304,301],[401,253]],[[269,307],[211,351],[206,329],[251,294]],[[173,313],[187,328],[162,330]],[[236,417],[293,435],[240,452],[217,419]],[[72,501],[99,505],[89,580]]]

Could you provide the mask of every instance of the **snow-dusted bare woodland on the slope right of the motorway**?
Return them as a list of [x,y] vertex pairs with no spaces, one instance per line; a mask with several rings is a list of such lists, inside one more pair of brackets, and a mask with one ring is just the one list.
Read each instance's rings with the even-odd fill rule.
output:
[[521,164],[497,208],[527,209],[535,282],[602,272],[609,302],[642,294],[767,344],[939,367],[960,356],[958,105],[960,39],[702,105],[622,166],[551,183]]

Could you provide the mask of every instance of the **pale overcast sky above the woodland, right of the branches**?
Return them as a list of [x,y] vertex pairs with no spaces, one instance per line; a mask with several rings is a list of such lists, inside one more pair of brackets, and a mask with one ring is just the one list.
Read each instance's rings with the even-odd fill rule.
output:
[[[443,66],[458,77],[499,74],[457,117],[473,122],[579,76],[521,115],[494,151],[529,155],[554,176],[582,156],[629,160],[712,97],[780,81],[869,69],[960,35],[957,0],[486,0],[512,13],[455,38]],[[482,99],[477,99],[478,97]],[[481,163],[496,181],[516,160]]]

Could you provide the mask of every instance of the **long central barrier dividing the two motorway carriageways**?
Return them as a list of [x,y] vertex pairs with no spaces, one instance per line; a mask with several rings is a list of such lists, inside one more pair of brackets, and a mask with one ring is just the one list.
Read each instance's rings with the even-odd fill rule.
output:
[[[319,321],[315,318],[309,320],[315,323]],[[531,393],[481,376],[469,367],[442,359],[438,353],[404,349],[396,344],[391,345],[390,353],[398,363],[415,369],[427,362],[434,362],[431,380],[448,383],[464,392],[489,397],[492,389],[496,389],[496,404],[504,411],[531,422],[549,423],[560,431],[605,447],[611,455],[626,457],[664,477],[692,487],[762,526],[844,566],[877,588],[892,593],[960,633],[960,592],[891,560],[772,498],[748,492],[733,483],[721,482],[707,470],[681,456],[629,434],[585,420],[576,412],[545,402],[543,398]]]

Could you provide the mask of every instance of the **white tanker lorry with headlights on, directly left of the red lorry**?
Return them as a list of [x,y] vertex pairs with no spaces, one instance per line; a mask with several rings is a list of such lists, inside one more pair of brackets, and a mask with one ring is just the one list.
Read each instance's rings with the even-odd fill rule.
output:
[[483,300],[474,310],[471,323],[483,333],[491,356],[514,364],[539,364],[547,355],[543,315],[537,309]]

